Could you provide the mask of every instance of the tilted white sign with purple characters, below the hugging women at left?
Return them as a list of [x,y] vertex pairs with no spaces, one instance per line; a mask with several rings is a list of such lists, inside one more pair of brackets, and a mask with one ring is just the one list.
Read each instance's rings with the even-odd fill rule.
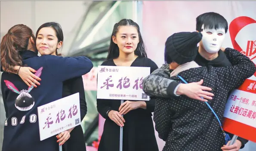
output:
[[80,125],[79,93],[37,108],[40,140]]

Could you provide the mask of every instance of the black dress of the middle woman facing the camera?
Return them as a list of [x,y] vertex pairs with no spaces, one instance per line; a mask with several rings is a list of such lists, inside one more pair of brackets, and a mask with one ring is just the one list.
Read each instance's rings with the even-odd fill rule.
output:
[[[102,65],[116,66],[113,59]],[[138,57],[132,67],[150,67],[150,73],[157,69],[157,65],[148,58]],[[125,100],[126,101],[126,100]],[[147,108],[138,108],[123,115],[123,151],[158,151],[151,112],[154,111],[155,99],[145,101]],[[104,117],[104,129],[98,151],[119,151],[120,126],[107,115],[108,110],[118,111],[120,100],[97,99],[97,109]]]

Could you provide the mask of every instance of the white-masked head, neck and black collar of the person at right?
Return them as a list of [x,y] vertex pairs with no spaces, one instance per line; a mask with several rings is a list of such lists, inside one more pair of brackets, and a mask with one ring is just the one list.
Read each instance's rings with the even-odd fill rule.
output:
[[196,31],[201,32],[203,38],[195,62],[200,66],[231,66],[220,49],[228,31],[227,20],[216,12],[206,12],[196,18]]

